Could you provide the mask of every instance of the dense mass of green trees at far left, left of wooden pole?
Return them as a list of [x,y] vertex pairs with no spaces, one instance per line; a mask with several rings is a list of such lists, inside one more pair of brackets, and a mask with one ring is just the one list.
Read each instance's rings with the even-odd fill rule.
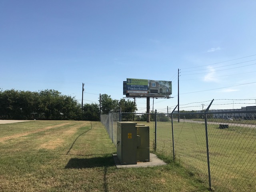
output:
[[79,119],[80,109],[74,98],[56,90],[0,90],[0,118],[3,119]]

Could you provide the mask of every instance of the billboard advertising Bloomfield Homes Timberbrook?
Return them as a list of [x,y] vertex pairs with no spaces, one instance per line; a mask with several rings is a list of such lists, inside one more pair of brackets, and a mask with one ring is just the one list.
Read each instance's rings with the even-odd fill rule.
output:
[[124,95],[127,97],[166,97],[172,94],[172,82],[127,78],[124,81]]

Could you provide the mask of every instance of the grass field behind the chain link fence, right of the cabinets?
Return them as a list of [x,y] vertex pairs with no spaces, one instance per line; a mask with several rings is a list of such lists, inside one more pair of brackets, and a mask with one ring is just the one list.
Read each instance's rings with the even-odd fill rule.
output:
[[[248,121],[239,123],[248,124]],[[153,150],[154,122],[143,124],[150,126]],[[156,152],[172,159],[171,122],[157,122],[156,140]],[[231,125],[219,129],[218,124],[208,124],[208,141],[212,188],[224,192],[256,191],[256,128]],[[174,121],[174,146],[176,161],[207,183],[204,122]]]

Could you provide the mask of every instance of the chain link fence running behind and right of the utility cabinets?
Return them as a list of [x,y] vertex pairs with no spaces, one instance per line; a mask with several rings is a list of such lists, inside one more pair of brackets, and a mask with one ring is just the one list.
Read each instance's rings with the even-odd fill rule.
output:
[[120,120],[149,126],[150,151],[179,162],[212,190],[256,191],[255,110],[101,115],[115,145]]

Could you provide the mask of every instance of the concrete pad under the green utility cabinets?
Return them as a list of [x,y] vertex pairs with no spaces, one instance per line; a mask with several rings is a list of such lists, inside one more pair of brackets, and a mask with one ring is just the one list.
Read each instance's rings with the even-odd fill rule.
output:
[[113,154],[113,158],[117,168],[131,168],[131,167],[150,167],[150,166],[160,166],[167,165],[166,162],[160,160],[156,154],[150,153],[150,162],[137,162],[135,165],[121,165],[116,154]]

